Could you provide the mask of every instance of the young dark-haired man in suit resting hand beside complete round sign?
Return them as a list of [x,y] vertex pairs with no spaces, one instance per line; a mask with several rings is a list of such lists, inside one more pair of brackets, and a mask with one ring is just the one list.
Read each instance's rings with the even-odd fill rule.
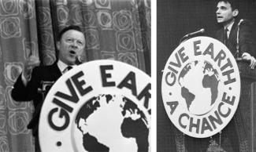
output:
[[[238,6],[239,4],[235,0],[218,1],[216,15],[217,23],[221,24],[221,29],[217,31],[216,38],[228,47],[233,56],[249,60],[250,68],[254,69],[256,65],[256,42],[254,42],[250,23],[247,20],[236,19],[239,15]],[[237,34],[239,34],[239,38],[237,38]],[[236,48],[237,44],[239,44],[239,53]]]

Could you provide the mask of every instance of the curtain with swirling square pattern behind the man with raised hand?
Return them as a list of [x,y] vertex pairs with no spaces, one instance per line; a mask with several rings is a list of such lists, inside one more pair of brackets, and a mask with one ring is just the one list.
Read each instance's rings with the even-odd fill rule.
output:
[[56,35],[71,24],[86,35],[83,62],[120,60],[150,74],[149,0],[0,0],[0,151],[34,150],[32,103],[10,92],[28,56],[54,63]]

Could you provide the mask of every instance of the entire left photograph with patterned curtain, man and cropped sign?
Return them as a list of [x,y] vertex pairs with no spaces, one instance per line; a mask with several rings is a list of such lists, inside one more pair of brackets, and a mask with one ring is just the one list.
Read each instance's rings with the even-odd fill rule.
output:
[[0,151],[154,151],[150,0],[0,0]]

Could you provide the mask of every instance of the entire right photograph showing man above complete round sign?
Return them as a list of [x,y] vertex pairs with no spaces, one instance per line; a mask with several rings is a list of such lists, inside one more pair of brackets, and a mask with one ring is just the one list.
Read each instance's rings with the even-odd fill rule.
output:
[[256,1],[157,3],[157,151],[256,151]]

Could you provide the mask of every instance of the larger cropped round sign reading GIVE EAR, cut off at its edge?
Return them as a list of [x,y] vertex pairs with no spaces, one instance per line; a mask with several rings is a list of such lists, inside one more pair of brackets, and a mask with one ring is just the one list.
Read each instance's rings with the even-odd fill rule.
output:
[[39,120],[42,151],[150,151],[150,77],[114,60],[72,68]]

